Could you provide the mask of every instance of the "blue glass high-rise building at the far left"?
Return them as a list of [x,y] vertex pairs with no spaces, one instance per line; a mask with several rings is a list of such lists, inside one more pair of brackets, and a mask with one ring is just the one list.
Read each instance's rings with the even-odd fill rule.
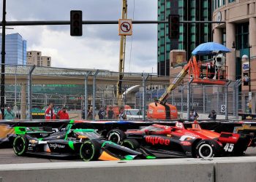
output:
[[5,53],[6,64],[26,65],[26,40],[19,33],[7,34],[5,36]]

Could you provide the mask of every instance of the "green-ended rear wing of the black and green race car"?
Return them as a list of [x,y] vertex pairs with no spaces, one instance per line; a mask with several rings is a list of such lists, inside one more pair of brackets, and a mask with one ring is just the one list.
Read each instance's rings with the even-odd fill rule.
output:
[[32,134],[32,133],[52,133],[52,127],[14,127],[16,135]]

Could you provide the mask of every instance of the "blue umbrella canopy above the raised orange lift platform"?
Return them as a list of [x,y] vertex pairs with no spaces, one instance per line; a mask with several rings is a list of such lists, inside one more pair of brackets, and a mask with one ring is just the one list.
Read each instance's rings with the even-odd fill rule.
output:
[[200,44],[192,51],[192,55],[215,55],[217,51],[222,53],[231,52],[227,47],[216,42],[207,42]]

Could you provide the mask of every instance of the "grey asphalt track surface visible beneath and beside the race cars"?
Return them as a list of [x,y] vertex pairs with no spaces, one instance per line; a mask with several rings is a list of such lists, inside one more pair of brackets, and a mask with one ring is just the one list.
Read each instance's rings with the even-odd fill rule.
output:
[[[250,147],[247,149],[244,157],[256,157],[256,148]],[[179,158],[179,157],[172,157]],[[0,165],[4,164],[23,164],[23,163],[43,163],[43,162],[80,162],[81,159],[60,159],[60,158],[46,158],[46,157],[18,157],[14,154],[12,149],[0,149]]]

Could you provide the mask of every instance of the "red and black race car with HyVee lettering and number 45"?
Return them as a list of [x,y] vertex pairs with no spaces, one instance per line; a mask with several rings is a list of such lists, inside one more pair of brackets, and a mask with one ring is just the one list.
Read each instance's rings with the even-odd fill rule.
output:
[[185,129],[184,124],[176,122],[175,127],[152,124],[141,130],[113,129],[108,132],[108,140],[121,143],[130,149],[140,149],[144,153],[159,157],[173,155],[195,158],[241,156],[252,140],[251,135],[231,132],[211,132]]

